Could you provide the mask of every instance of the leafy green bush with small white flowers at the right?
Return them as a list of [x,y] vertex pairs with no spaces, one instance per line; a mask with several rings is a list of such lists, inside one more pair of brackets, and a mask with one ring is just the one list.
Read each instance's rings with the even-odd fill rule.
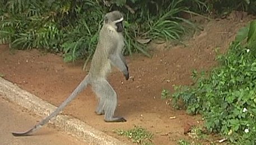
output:
[[[245,42],[246,39],[246,42]],[[231,142],[256,143],[256,21],[239,30],[220,66],[209,76],[197,76],[194,86],[176,88],[175,107],[182,100],[188,113],[201,113],[209,132]],[[194,73],[194,75],[197,73]]]

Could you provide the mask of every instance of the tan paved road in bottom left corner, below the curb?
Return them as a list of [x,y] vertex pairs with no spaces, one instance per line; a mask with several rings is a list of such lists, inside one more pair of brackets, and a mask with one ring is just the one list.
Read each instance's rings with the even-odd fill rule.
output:
[[51,144],[85,144],[77,141],[76,138],[69,136],[57,129],[47,127],[35,132],[34,136],[13,137],[11,131],[22,131],[32,127],[40,117],[33,117],[29,113],[22,111],[22,108],[14,105],[0,96],[0,144],[18,145],[51,145]]

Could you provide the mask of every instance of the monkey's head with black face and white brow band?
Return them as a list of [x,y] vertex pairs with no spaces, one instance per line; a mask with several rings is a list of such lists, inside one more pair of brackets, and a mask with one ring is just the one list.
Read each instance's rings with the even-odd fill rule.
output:
[[119,11],[106,13],[104,22],[115,28],[117,32],[123,31],[123,14]]

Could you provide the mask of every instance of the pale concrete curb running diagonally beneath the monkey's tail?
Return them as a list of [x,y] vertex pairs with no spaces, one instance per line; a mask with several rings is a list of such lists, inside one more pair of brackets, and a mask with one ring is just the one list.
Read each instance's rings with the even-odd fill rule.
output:
[[[0,95],[2,95],[2,98],[10,100],[41,117],[46,117],[57,108],[1,77]],[[68,115],[59,114],[51,119],[49,123],[89,144],[125,144]]]

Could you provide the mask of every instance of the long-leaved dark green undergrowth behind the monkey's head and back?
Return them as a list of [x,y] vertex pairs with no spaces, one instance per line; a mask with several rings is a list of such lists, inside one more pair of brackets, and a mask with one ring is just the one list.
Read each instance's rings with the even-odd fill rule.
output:
[[180,12],[189,12],[185,2],[187,1],[1,1],[0,43],[9,43],[14,49],[35,47],[61,52],[64,61],[83,57],[90,59],[95,50],[103,15],[119,9],[125,14],[125,54],[142,52],[150,56],[145,44],[139,43],[142,42],[139,40],[178,40],[189,30],[188,25],[181,25],[183,22],[193,26],[179,17]]

